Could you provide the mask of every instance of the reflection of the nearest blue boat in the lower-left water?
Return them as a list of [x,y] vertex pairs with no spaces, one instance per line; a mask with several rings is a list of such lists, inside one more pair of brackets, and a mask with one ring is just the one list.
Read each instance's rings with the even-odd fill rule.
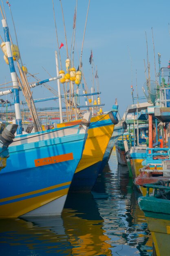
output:
[[0,220],[0,255],[71,255],[62,218]]

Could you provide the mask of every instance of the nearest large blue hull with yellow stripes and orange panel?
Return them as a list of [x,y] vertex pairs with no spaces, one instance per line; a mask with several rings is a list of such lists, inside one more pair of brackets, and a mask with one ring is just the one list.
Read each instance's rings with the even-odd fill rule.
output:
[[81,124],[16,136],[0,172],[0,218],[60,215],[87,131]]

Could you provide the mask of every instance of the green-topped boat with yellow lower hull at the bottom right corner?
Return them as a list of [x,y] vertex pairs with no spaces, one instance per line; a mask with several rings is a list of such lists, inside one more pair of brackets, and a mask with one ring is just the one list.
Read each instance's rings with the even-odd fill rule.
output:
[[[163,185],[164,183],[164,185]],[[170,181],[144,184],[146,196],[138,204],[146,216],[157,256],[169,255],[170,241]],[[150,189],[153,190],[150,193]]]

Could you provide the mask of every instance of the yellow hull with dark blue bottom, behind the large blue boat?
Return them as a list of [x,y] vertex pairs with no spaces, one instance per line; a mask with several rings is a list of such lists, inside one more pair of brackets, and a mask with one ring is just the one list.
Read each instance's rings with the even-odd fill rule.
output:
[[[81,120],[57,124],[58,128],[79,124]],[[70,192],[90,192],[95,185],[104,153],[113,134],[115,112],[91,118],[88,137],[84,147],[82,159],[79,162],[70,186]]]

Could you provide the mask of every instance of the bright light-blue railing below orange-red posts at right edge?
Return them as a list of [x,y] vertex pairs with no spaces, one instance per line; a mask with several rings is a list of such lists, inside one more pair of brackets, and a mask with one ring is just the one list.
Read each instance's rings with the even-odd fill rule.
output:
[[169,159],[170,148],[146,148],[146,159]]

